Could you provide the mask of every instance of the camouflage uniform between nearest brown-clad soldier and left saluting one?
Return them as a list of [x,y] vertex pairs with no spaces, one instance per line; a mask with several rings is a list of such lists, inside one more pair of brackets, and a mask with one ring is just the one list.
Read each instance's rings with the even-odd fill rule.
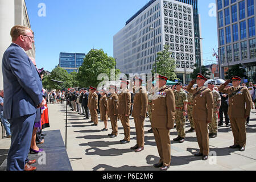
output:
[[184,102],[188,102],[188,97],[187,93],[183,89],[178,92],[177,90],[174,91],[174,96],[175,96],[175,122],[176,122],[176,129],[177,129],[177,134],[181,138],[185,138],[185,122],[186,122],[186,117],[183,115],[183,110],[184,110]]

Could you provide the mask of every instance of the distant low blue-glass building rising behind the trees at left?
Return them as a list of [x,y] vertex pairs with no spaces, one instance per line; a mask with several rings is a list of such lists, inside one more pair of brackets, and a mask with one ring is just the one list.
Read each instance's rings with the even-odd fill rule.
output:
[[67,70],[68,73],[73,71],[78,72],[84,62],[85,53],[67,53],[60,52],[59,65],[61,68]]

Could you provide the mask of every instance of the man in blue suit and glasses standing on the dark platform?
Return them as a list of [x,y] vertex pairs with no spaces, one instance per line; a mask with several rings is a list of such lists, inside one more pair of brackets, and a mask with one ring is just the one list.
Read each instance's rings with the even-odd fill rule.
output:
[[[11,146],[7,156],[7,171],[35,170],[25,163],[30,148],[36,109],[44,106],[42,82],[27,53],[34,43],[30,28],[11,28],[12,44],[3,54],[2,72],[5,90],[3,115],[10,122]],[[15,104],[14,104],[15,103]],[[26,167],[25,167],[26,166]]]

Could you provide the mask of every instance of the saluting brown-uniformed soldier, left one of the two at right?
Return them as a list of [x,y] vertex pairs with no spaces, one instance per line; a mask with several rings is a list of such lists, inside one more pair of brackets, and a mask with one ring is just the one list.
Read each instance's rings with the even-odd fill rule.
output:
[[[199,144],[200,152],[195,156],[202,156],[203,160],[208,159],[209,155],[209,134],[208,123],[212,122],[213,115],[213,96],[210,89],[205,88],[204,82],[207,81],[200,73],[197,78],[192,80],[188,85],[188,92],[193,93],[193,122],[196,129],[197,142]],[[195,89],[193,84],[197,84]]]

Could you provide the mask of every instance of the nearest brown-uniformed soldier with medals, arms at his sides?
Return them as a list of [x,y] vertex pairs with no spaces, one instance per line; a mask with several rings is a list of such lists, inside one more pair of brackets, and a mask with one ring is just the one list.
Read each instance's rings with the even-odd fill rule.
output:
[[154,167],[166,171],[171,163],[170,130],[174,127],[175,97],[174,92],[167,88],[168,77],[159,75],[156,80],[155,99],[152,101],[152,129],[154,132],[159,163]]

